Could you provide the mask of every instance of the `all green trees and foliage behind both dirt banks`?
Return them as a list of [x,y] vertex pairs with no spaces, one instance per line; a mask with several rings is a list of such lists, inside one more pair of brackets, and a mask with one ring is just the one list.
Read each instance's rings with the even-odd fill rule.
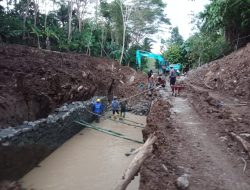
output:
[[[162,24],[170,24],[163,0],[0,3],[0,42],[105,56],[134,68],[136,49],[150,51],[153,41],[148,37]],[[250,41],[250,0],[211,0],[194,23],[198,32],[187,40],[177,27],[172,28],[169,39],[162,39],[166,60],[182,63],[185,69],[222,57]]]

